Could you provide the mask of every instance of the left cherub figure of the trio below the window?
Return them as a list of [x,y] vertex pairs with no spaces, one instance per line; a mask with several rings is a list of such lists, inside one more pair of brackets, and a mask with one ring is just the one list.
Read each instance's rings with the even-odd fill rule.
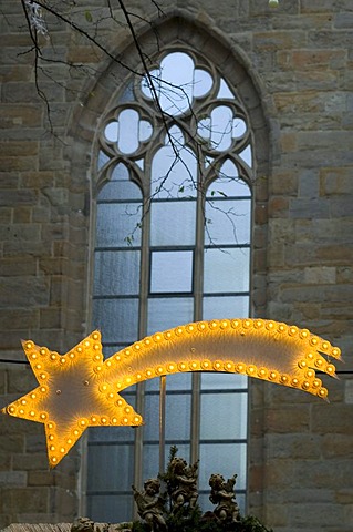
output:
[[146,480],[144,483],[145,491],[138,491],[134,485],[132,488],[138,515],[148,524],[152,532],[166,532],[167,525],[163,516],[165,501],[159,494],[159,480]]

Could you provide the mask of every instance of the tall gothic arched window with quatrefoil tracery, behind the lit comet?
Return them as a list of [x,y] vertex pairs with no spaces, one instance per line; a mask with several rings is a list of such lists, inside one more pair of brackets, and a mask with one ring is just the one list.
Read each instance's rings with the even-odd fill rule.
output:
[[[249,316],[247,111],[195,51],[166,51],[149,74],[131,76],[101,124],[93,325],[105,356],[177,325]],[[158,378],[125,396],[146,424],[91,429],[87,514],[95,521],[131,520],[131,485],[158,473]],[[175,444],[186,460],[200,459],[204,510],[212,472],[238,474],[243,508],[246,377],[167,377],[165,443],[166,454]]]

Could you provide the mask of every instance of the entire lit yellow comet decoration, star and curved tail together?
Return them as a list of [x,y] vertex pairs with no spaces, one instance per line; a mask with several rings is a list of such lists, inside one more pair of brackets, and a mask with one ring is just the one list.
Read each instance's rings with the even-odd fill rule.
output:
[[[243,374],[326,399],[315,370],[335,376],[341,352],[307,329],[263,319],[198,321],[156,332],[104,361],[101,334],[64,356],[23,342],[39,386],[2,410],[43,423],[55,467],[87,427],[139,426],[120,392],[155,377],[184,371]],[[325,357],[323,356],[325,355]]]

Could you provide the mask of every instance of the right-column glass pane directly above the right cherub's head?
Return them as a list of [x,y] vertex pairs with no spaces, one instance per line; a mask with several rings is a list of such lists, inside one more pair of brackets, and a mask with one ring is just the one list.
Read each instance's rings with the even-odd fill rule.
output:
[[236,491],[246,489],[247,446],[246,443],[203,443],[200,444],[199,488],[209,490],[208,481],[212,473],[220,473],[225,480],[238,474]]

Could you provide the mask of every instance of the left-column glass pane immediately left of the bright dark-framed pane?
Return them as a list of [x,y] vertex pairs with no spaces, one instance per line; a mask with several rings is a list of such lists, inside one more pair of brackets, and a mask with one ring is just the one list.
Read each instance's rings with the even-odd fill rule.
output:
[[138,295],[139,252],[96,252],[94,295]]

